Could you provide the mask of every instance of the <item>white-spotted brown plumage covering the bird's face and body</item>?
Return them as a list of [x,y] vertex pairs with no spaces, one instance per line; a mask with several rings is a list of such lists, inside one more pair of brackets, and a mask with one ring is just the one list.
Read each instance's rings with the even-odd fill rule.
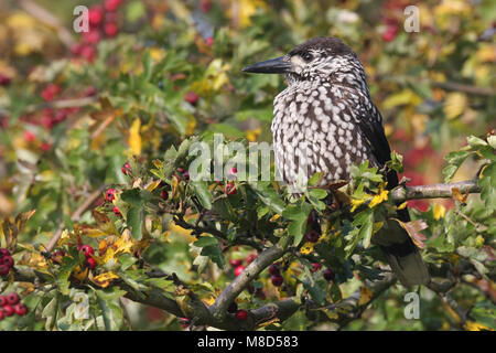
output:
[[308,180],[324,172],[321,184],[325,185],[347,180],[352,163],[367,159],[377,164],[357,125],[357,119],[381,122],[373,109],[363,66],[353,52],[333,56],[326,51],[311,50],[317,58],[308,65],[291,58],[298,51],[290,52],[289,60],[296,62],[299,69],[287,75],[289,86],[274,99],[276,162],[289,184],[301,175]]

